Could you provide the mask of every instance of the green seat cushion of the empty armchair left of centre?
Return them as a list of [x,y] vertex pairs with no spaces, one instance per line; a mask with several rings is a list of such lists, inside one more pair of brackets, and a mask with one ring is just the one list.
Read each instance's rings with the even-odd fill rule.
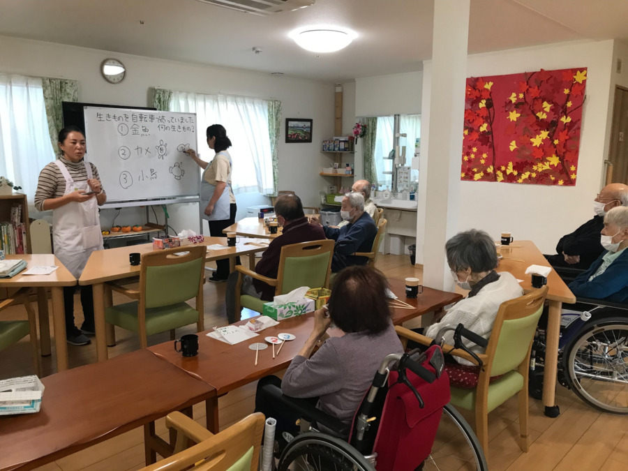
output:
[[[118,304],[105,309],[107,324],[117,325],[123,329],[139,332],[137,324],[137,301],[126,304]],[[177,327],[198,322],[198,311],[186,303],[177,303],[160,308],[146,310],[146,334],[147,336],[165,332]]]

